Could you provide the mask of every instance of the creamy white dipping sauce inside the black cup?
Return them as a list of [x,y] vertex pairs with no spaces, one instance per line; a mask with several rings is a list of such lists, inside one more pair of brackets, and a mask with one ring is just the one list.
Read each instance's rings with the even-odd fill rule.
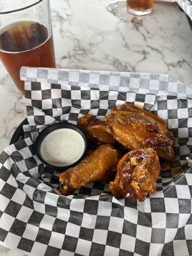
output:
[[67,166],[83,155],[84,139],[79,132],[68,128],[54,130],[42,141],[40,154],[49,164]]

